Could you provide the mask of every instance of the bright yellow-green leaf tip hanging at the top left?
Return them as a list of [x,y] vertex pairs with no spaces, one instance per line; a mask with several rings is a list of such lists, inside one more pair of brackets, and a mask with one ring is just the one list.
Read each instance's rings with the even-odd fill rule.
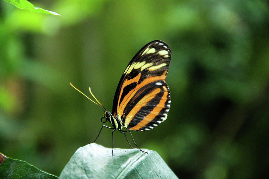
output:
[[34,7],[34,5],[31,4],[27,0],[5,0],[5,1],[14,4],[16,7],[20,8],[20,9],[29,10],[29,11],[32,11],[35,13],[52,14],[52,15],[60,16],[60,14],[58,14],[58,13],[42,9],[40,7]]

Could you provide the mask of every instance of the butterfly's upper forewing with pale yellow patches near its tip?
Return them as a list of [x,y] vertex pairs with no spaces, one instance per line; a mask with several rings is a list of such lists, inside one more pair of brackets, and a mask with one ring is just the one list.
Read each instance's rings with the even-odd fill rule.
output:
[[[146,44],[130,61],[120,78],[113,100],[115,116],[121,118],[122,107],[129,100],[129,92],[155,80],[165,80],[171,58],[171,51],[163,41],[156,40]],[[138,76],[139,75],[139,76]],[[159,77],[158,79],[150,77]],[[149,78],[148,82],[145,80]],[[123,89],[122,89],[123,88]],[[133,95],[133,94],[132,94]],[[132,96],[131,95],[131,96]],[[121,112],[120,112],[121,110]]]

